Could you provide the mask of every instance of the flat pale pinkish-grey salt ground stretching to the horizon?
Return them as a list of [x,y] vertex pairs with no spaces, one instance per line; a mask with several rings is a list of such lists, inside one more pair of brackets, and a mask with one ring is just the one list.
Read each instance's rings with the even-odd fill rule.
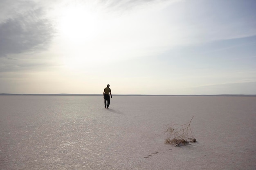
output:
[[255,141],[256,97],[0,96],[0,170],[255,170]]

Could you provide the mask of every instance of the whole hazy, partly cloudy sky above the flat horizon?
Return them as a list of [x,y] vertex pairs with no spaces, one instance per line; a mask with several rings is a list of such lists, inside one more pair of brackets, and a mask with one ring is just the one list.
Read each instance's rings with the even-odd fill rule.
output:
[[0,93],[256,94],[255,0],[0,0]]

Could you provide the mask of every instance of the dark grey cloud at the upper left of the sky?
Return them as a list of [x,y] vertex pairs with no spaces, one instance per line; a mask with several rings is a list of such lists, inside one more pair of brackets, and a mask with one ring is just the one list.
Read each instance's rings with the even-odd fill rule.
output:
[[54,37],[54,27],[44,18],[42,8],[7,17],[0,23],[0,57],[47,48]]

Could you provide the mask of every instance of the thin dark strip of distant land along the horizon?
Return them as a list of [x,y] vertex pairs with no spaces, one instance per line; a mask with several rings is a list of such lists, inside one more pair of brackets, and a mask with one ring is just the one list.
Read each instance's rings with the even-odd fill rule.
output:
[[[101,94],[11,94],[11,93],[0,93],[1,96],[101,96]],[[256,97],[256,95],[113,95],[113,96],[226,96],[226,97]]]

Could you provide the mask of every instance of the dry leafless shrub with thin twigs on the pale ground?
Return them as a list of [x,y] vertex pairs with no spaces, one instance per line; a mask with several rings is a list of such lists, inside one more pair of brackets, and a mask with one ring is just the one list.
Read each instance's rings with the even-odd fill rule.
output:
[[190,127],[192,119],[183,125],[172,124],[167,126],[166,132],[168,133],[168,138],[165,139],[165,143],[182,146],[189,144],[189,142],[196,142]]

